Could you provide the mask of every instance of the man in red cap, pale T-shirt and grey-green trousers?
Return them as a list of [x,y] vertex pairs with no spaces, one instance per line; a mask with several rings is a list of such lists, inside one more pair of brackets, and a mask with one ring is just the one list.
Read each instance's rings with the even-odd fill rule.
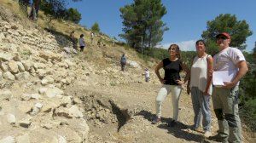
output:
[[[213,85],[212,103],[218,118],[218,134],[212,139],[241,142],[241,121],[238,113],[238,86],[247,71],[247,62],[239,49],[230,47],[231,37],[223,32],[216,36],[219,52],[213,57],[214,71],[232,71],[235,77],[224,86]],[[214,78],[214,77],[213,77]],[[213,79],[214,80],[214,79]]]

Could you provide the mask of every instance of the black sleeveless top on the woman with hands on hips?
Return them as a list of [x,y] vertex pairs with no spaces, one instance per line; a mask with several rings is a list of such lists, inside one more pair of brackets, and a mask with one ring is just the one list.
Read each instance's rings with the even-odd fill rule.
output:
[[183,70],[182,68],[182,61],[181,60],[175,60],[171,61],[169,58],[166,58],[163,61],[164,70],[165,70],[165,77],[164,80],[166,80],[165,84],[169,85],[178,85],[176,80],[180,80],[179,72]]

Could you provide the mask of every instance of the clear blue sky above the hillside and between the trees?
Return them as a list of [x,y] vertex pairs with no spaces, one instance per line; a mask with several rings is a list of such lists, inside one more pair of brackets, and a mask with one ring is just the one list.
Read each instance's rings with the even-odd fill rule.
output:
[[[82,14],[80,24],[90,28],[98,22],[101,31],[111,37],[122,32],[122,19],[119,8],[133,0],[83,0],[67,3],[68,7]],[[246,20],[253,31],[247,37],[247,51],[252,51],[256,42],[256,0],[162,0],[167,14],[163,17],[166,31],[161,45],[168,47],[177,43],[182,50],[195,50],[195,41],[207,30],[207,20],[214,20],[219,14],[236,14],[237,20]]]

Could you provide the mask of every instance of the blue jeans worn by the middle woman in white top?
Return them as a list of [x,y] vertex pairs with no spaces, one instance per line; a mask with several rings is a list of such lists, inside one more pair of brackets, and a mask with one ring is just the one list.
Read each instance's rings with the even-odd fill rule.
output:
[[210,95],[204,95],[197,87],[191,89],[191,99],[195,113],[194,128],[198,128],[203,116],[202,125],[205,131],[211,131]]

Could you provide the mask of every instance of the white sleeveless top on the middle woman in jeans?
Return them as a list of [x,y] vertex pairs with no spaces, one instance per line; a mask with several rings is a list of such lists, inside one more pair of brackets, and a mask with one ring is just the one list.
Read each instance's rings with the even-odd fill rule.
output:
[[[197,87],[202,92],[207,88],[207,57],[211,55],[206,55],[201,58],[195,56],[193,60],[193,65],[191,67],[190,75],[190,88]],[[209,88],[209,94],[212,94],[212,83]]]

